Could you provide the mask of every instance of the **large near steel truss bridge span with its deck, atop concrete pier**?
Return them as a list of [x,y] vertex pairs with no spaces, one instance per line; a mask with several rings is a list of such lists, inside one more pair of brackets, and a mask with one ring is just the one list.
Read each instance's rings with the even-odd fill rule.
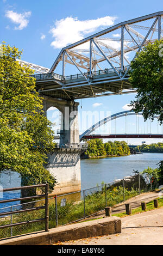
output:
[[[129,83],[130,62],[149,42],[162,39],[163,11],[121,22],[62,48],[51,69],[17,60],[33,69],[42,95],[75,100],[136,92]],[[61,63],[61,74],[55,69]],[[65,65],[78,74],[65,76]]]

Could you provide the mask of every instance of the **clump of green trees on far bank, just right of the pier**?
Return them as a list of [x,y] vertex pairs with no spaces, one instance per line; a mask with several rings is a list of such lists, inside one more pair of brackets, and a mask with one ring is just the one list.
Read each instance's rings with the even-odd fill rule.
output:
[[87,143],[85,155],[91,157],[124,156],[130,154],[130,149],[125,141],[108,141],[90,139]]

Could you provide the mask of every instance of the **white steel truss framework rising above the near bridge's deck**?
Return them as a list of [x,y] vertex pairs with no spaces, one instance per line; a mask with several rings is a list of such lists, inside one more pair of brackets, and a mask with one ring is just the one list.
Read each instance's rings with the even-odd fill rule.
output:
[[[89,72],[89,79],[85,77],[89,84],[92,71],[102,70],[99,65],[101,63],[103,66],[105,65],[105,68],[111,67],[114,69],[117,76],[123,80],[128,74],[130,62],[135,59],[136,53],[142,51],[143,46],[149,42],[153,43],[157,39],[162,39],[162,17],[163,12],[161,11],[121,22],[118,25],[66,46],[62,48],[48,72],[54,72],[59,62],[62,61],[61,74],[64,76],[65,63],[69,63],[76,66],[83,76],[85,76],[85,71],[82,71],[82,69]],[[146,21],[148,21],[148,26],[144,26]],[[120,34],[119,38],[114,38],[112,33]],[[116,46],[114,43],[116,43]]]

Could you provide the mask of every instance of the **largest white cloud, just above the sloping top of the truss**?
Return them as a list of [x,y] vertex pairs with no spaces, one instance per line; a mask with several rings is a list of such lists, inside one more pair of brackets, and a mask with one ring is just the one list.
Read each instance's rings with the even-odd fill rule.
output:
[[73,42],[82,40],[87,34],[93,33],[97,28],[109,27],[114,24],[116,17],[105,16],[96,20],[80,21],[77,17],[66,17],[57,20],[54,27],[49,31],[54,41],[51,46],[62,48]]

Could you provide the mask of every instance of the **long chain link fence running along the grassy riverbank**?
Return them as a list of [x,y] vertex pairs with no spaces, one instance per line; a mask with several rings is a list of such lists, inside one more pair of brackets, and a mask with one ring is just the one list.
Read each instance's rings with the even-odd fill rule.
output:
[[[84,220],[86,217],[103,211],[106,206],[114,206],[140,193],[153,191],[158,187],[158,181],[151,182],[147,176],[135,174],[87,190],[50,197],[48,200],[49,229],[58,225]],[[0,209],[0,214],[12,212],[11,215],[0,216],[0,227],[1,225],[43,219],[45,217],[45,209],[16,213],[18,210],[33,209],[41,206],[45,206],[45,199]],[[43,221],[0,228],[0,239],[41,230],[45,230],[45,222]]]

